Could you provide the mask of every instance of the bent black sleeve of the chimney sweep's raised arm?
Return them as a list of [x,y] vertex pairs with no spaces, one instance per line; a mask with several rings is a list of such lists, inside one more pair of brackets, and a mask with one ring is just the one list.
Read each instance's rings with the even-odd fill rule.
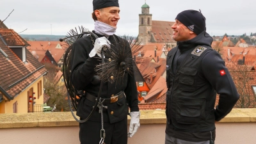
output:
[[74,42],[71,57],[71,81],[76,90],[84,90],[92,81],[95,74],[94,68],[99,59],[90,58],[88,55],[92,50],[92,42],[85,38],[79,38]]

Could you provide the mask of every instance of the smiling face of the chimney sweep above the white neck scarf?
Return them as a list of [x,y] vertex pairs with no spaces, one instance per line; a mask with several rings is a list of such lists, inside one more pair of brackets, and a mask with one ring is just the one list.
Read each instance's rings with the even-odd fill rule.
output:
[[116,6],[111,6],[107,8],[102,8],[100,10],[95,10],[95,15],[97,20],[104,22],[109,26],[116,28],[119,17],[120,9]]

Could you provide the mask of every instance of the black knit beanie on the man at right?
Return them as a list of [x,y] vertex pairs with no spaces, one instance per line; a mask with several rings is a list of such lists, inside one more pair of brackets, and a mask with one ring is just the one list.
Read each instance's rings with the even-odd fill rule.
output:
[[175,19],[179,20],[196,35],[199,35],[206,29],[204,15],[196,10],[185,10],[180,12]]

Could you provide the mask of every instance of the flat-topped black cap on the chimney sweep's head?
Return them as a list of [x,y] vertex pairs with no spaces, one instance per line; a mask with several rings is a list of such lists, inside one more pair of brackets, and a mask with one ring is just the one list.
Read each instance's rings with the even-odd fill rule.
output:
[[107,8],[110,6],[117,6],[119,7],[118,0],[93,0],[93,11],[99,10],[100,8]]

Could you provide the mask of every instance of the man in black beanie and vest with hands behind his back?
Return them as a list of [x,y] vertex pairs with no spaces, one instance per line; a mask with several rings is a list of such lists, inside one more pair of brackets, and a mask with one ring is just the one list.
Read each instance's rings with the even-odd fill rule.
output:
[[[236,86],[220,54],[211,48],[201,12],[180,12],[172,29],[177,47],[166,60],[165,144],[212,144],[215,122],[239,99]],[[220,99],[214,108],[216,93]]]

